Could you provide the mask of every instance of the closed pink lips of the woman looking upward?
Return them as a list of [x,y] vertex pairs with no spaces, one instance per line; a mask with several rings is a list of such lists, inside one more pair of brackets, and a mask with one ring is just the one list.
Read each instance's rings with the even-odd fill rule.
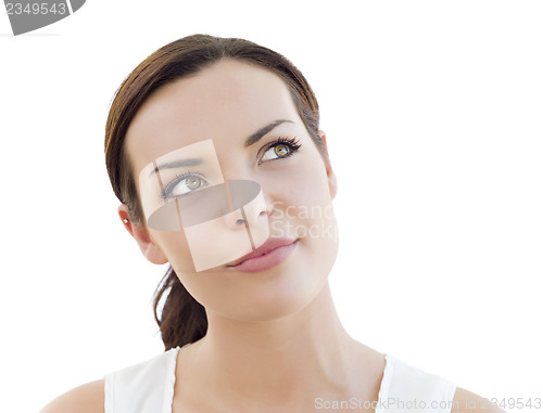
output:
[[264,271],[287,259],[294,250],[298,240],[268,238],[254,251],[228,263],[228,267],[242,272]]

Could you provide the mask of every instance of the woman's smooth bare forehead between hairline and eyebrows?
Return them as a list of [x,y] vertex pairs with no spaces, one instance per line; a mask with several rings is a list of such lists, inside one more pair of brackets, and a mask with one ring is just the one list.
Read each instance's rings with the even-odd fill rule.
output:
[[125,144],[135,166],[142,166],[199,141],[244,140],[276,119],[302,124],[283,80],[223,60],[154,92],[132,119]]

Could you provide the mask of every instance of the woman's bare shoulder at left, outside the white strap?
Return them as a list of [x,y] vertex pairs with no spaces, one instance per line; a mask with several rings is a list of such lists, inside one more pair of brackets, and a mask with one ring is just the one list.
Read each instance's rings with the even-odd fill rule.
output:
[[46,405],[40,413],[103,413],[104,379],[76,387]]

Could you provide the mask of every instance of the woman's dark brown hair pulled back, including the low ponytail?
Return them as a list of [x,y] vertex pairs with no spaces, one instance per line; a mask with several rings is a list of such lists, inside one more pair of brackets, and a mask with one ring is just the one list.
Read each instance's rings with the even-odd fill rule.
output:
[[[117,198],[128,206],[134,223],[141,224],[144,220],[130,163],[124,150],[128,126],[142,103],[159,88],[194,74],[222,59],[242,61],[278,75],[289,87],[307,132],[321,155],[327,156],[324,142],[317,133],[317,100],[307,80],[289,60],[243,39],[209,35],[181,38],[155,51],[128,75],[117,89],[108,116],[105,165],[113,191]],[[159,317],[159,306],[166,293],[167,298]],[[154,317],[166,350],[197,341],[207,331],[204,308],[187,292],[172,267],[155,291]]]

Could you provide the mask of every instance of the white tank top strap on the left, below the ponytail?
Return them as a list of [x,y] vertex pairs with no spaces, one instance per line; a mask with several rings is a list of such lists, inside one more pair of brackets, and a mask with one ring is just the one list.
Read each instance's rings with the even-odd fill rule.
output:
[[179,347],[105,375],[105,413],[172,413]]

